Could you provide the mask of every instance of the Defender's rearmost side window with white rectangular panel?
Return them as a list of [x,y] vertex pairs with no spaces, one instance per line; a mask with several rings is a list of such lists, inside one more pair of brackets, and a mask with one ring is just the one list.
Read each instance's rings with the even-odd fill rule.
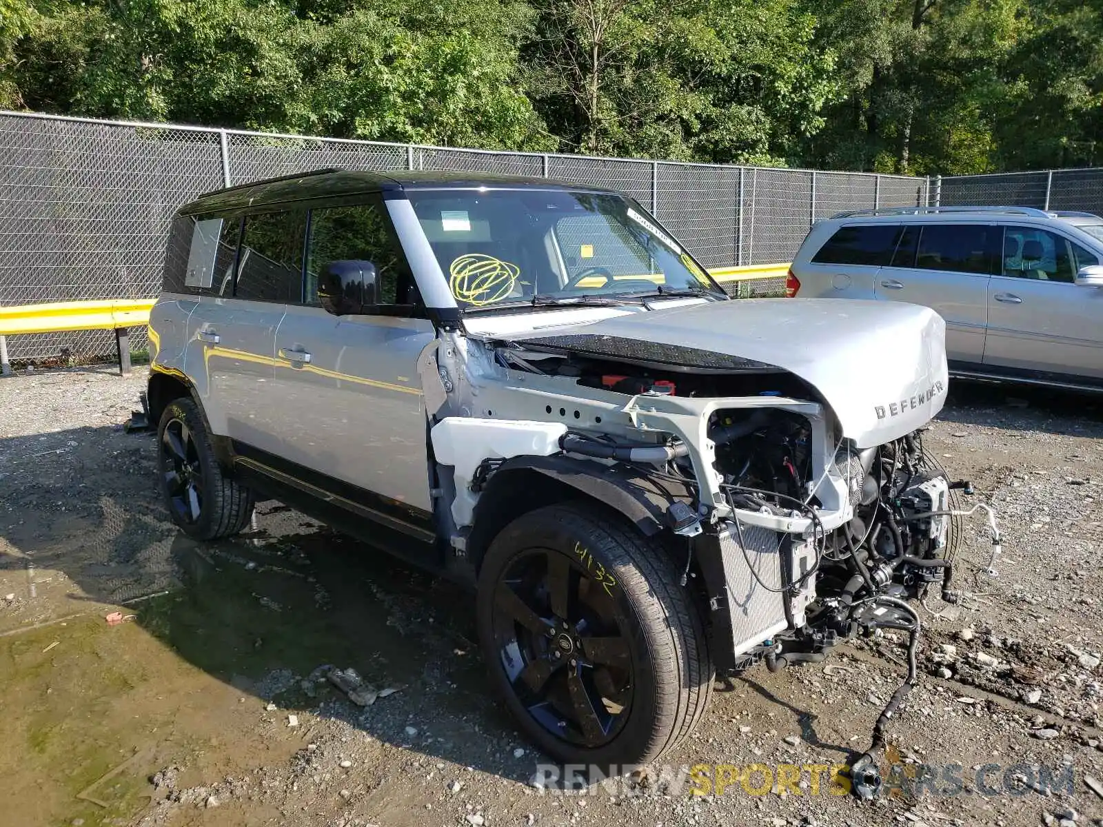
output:
[[239,229],[239,218],[174,218],[164,257],[164,291],[228,296]]

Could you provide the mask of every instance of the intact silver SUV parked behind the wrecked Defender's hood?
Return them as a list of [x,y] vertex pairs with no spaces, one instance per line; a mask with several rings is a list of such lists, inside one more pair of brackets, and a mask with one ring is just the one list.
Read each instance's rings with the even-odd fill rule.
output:
[[900,207],[818,222],[791,275],[800,296],[933,308],[955,376],[1103,390],[1101,261],[1091,213]]

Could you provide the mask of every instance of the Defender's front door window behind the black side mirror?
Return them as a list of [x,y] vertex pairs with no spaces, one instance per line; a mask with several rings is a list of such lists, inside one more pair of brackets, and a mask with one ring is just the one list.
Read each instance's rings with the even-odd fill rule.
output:
[[307,304],[319,304],[318,278],[331,261],[370,261],[375,266],[376,303],[415,303],[414,277],[382,201],[311,212]]

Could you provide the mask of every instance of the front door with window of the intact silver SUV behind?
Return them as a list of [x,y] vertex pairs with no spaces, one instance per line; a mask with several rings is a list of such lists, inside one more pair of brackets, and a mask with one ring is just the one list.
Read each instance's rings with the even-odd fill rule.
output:
[[1103,378],[1103,290],[1077,287],[1099,257],[1065,236],[1004,228],[1003,259],[988,284],[986,365]]

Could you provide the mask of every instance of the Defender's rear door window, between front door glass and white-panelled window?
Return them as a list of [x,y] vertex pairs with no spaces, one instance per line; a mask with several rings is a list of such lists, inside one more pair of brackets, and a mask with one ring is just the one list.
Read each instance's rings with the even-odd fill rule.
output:
[[304,212],[245,216],[234,296],[250,301],[302,301]]

